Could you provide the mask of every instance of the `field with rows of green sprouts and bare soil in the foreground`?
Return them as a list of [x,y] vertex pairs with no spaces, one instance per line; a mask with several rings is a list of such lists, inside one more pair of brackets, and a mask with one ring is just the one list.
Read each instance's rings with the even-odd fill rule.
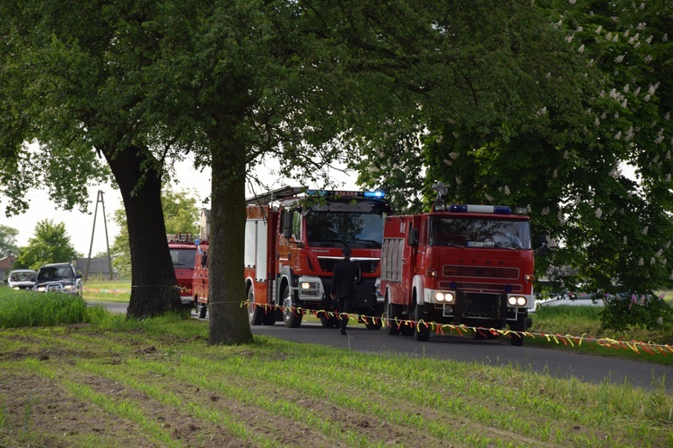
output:
[[[86,327],[1,330],[0,383],[22,387],[2,395],[0,446],[86,446],[94,435],[105,445],[119,427],[128,446],[673,444],[673,397],[657,385],[268,337],[209,346],[207,332],[178,316],[119,315]],[[49,403],[71,405],[46,412]]]

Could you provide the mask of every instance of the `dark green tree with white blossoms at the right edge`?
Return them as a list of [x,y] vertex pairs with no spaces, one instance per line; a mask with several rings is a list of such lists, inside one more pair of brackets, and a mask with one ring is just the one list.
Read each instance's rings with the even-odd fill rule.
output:
[[[432,200],[436,181],[449,185],[458,202],[528,208],[538,234],[559,242],[538,258],[538,275],[571,266],[551,272],[568,287],[667,288],[673,279],[667,266],[673,7],[667,1],[536,4],[528,12],[517,2],[492,12],[476,7],[472,26],[500,30],[495,40],[463,41],[468,34],[451,27],[455,48],[475,48],[456,68],[471,98],[447,95],[463,106],[445,108],[451,115],[424,114],[415,135],[390,133],[392,142],[371,149],[382,157],[359,165],[361,178],[394,190],[424,189],[416,208]],[[449,28],[461,5],[442,5],[447,14],[437,20]],[[637,180],[626,175],[625,164]],[[411,170],[424,177],[410,184]]]

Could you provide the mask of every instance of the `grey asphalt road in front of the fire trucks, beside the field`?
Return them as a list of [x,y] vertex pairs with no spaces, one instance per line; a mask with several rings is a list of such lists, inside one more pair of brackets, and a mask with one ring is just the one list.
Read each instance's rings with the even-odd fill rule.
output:
[[[113,313],[126,313],[127,304],[103,304]],[[192,316],[196,318],[194,312]],[[207,322],[207,316],[201,321]],[[302,323],[300,328],[286,328],[282,322],[273,326],[253,326],[252,332],[377,355],[431,357],[491,366],[519,366],[542,375],[576,377],[588,383],[630,383],[645,389],[659,389],[663,384],[667,392],[673,392],[673,366],[539,349],[527,347],[525,342],[523,347],[513,347],[509,338],[474,340],[471,337],[433,334],[430,340],[419,342],[412,336],[390,336],[384,330],[349,327],[348,335],[342,336],[337,329],[322,328],[319,323]],[[642,357],[649,356],[652,355],[642,354]]]

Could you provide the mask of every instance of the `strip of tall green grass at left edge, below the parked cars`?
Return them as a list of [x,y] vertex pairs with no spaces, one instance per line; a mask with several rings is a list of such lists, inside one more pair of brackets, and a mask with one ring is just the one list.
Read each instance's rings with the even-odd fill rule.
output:
[[[93,313],[100,315],[98,311]],[[82,297],[0,289],[1,328],[83,323],[89,315],[90,311]]]

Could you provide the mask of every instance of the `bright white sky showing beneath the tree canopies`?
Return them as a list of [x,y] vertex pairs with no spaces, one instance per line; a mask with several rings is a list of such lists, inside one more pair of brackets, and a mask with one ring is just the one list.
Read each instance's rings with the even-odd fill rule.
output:
[[[283,185],[296,185],[296,182],[277,181],[273,179],[269,170],[261,168],[263,171],[258,172],[262,181],[269,184],[275,181],[275,188]],[[346,189],[355,189],[355,176],[340,175],[336,180],[343,183]],[[315,188],[316,185],[307,185],[310,188]],[[199,207],[201,201],[205,200],[210,194],[210,169],[206,168],[203,172],[197,171],[193,168],[191,161],[180,162],[176,165],[175,180],[172,182],[172,189],[175,192],[180,190],[191,190],[197,196]],[[98,202],[98,192],[102,191],[102,202]],[[247,197],[251,196],[247,194]],[[47,191],[31,190],[28,194],[31,206],[29,210],[21,215],[13,217],[6,217],[4,209],[6,201],[0,197],[0,224],[15,228],[19,230],[19,235],[16,237],[17,246],[28,246],[29,239],[33,237],[35,226],[40,220],[52,220],[55,224],[62,222],[66,226],[67,236],[73,243],[74,250],[83,254],[84,257],[89,256],[90,247],[92,256],[101,252],[107,252],[105,239],[105,226],[108,228],[109,245],[112,245],[114,238],[119,233],[118,226],[111,220],[114,211],[123,208],[121,201],[121,194],[118,190],[113,189],[110,185],[94,185],[89,187],[89,214],[80,211],[63,211],[57,208],[55,202],[49,200]],[[96,206],[98,205],[98,211]],[[105,214],[107,215],[107,223],[103,220],[102,208],[105,207]],[[205,204],[205,207],[210,207]],[[94,228],[94,212],[96,214],[95,228]],[[92,237],[93,234],[93,237]]]

